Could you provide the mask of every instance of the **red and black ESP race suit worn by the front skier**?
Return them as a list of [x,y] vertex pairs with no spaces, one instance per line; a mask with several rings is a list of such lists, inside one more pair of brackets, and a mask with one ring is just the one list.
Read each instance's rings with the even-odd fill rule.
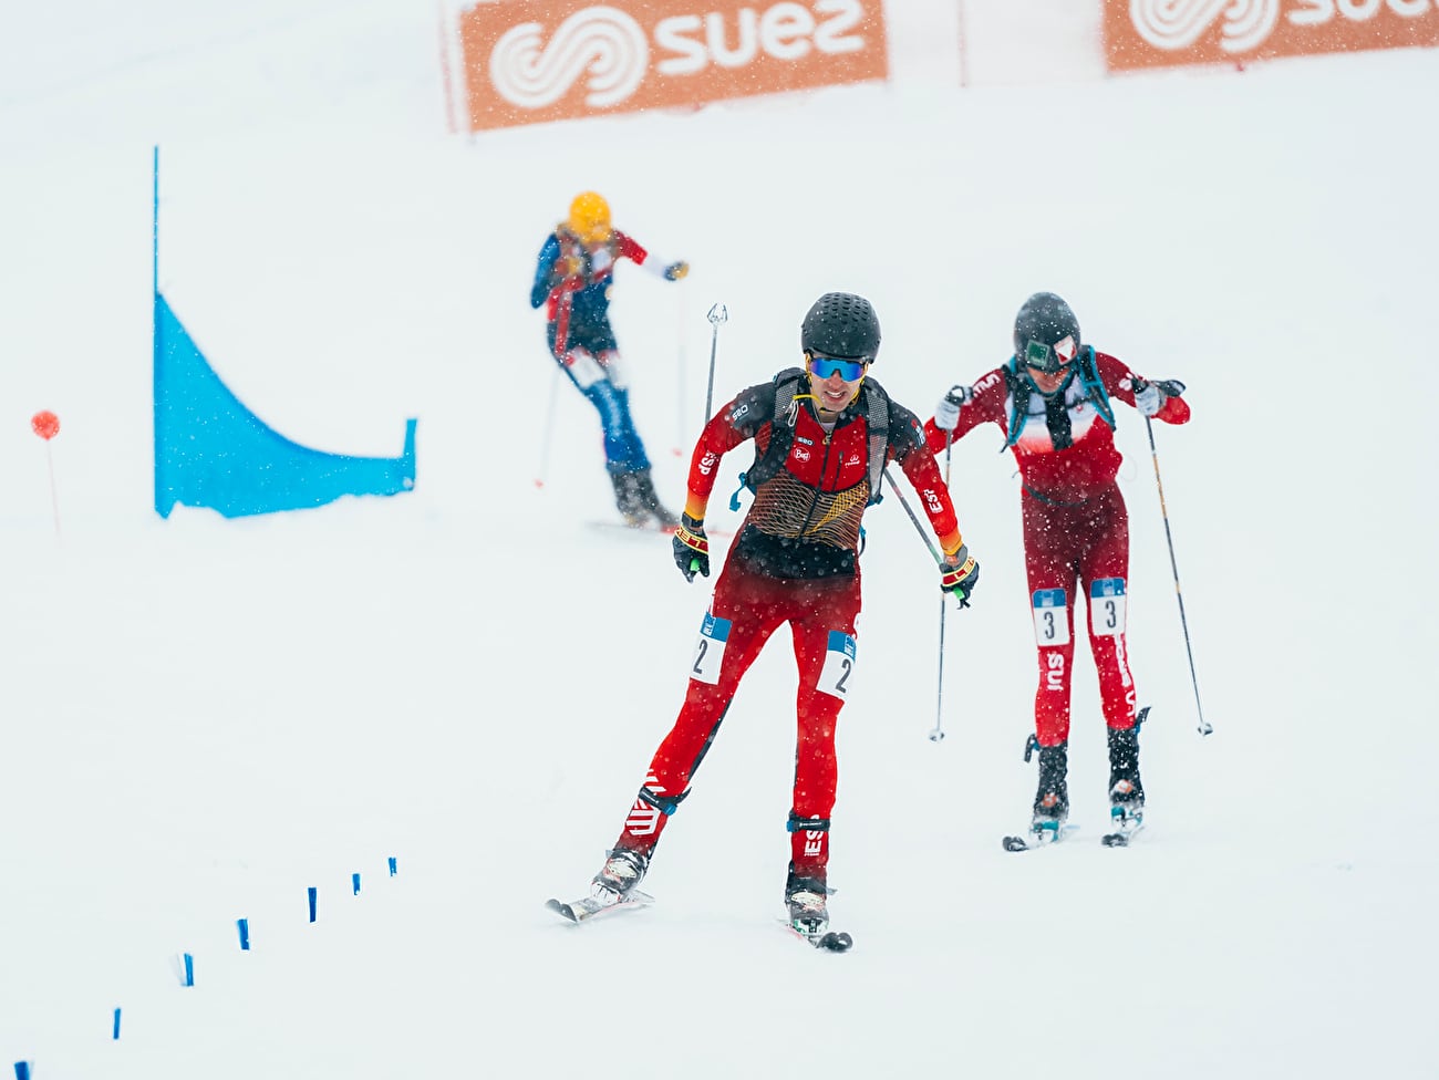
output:
[[[876,423],[885,410],[888,434]],[[695,446],[689,518],[704,521],[720,459],[748,440],[757,453],[748,472],[754,503],[715,582],[684,708],[655,751],[619,846],[646,856],[653,850],[669,815],[689,794],[740,680],[770,636],[789,623],[799,664],[791,873],[823,882],[837,782],[835,728],[856,660],[859,523],[873,485],[884,483],[871,453],[882,453],[884,462],[904,470],[945,554],[958,551],[963,541],[920,420],[873,380],[861,384],[832,430],[820,424],[807,377],[799,370],[741,391],[705,426]],[[780,453],[781,462],[776,460]]]

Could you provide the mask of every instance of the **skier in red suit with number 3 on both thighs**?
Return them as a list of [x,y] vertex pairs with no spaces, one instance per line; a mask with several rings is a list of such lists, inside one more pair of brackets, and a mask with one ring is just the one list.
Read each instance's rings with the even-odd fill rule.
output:
[[[1039,690],[1035,736],[1039,790],[1030,828],[1052,841],[1069,815],[1069,686],[1075,585],[1085,590],[1089,650],[1108,726],[1109,810],[1121,830],[1143,821],[1134,679],[1125,650],[1130,519],[1115,483],[1114,401],[1168,424],[1189,421],[1177,381],[1141,380],[1114,357],[1082,344],[1063,299],[1040,292],[1014,319],[1014,355],[973,387],[951,388],[925,424],[941,453],[979,424],[1006,434],[1023,482],[1025,567],[1029,572]],[[1025,759],[1029,759],[1026,748]]]

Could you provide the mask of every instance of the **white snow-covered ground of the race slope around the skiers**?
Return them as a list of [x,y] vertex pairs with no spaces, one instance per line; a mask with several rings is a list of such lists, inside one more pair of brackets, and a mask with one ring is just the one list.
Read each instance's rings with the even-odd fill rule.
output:
[[[0,65],[0,1066],[1439,1070],[1422,830],[1439,151],[1416,135],[1433,52],[895,83],[463,139],[443,131],[423,4],[32,4],[17,22]],[[153,513],[154,144],[161,289],[212,364],[308,446],[393,456],[419,417],[413,493]],[[1153,705],[1135,847],[1098,846],[1081,649],[1081,831],[1000,850],[1033,795],[1033,657],[1017,485],[984,429],[954,452],[984,577],[948,615],[940,745],[934,571],[896,500],[866,521],[830,866],[855,951],[816,955],[776,923],[783,641],[668,830],[658,906],[578,932],[543,909],[613,841],[708,595],[666,541],[590,525],[613,518],[597,424],[553,397],[525,303],[584,187],[694,266],[616,285],[672,502],[715,302],[717,398],[794,362],[827,289],[875,302],[875,375],[924,414],[1007,355],[1038,289],[1189,384],[1194,421],[1157,431],[1158,459],[1215,733],[1194,731],[1144,424],[1124,411],[1130,646]],[[29,430],[40,408],[60,417],[50,444]],[[715,526],[737,521],[724,508]]]

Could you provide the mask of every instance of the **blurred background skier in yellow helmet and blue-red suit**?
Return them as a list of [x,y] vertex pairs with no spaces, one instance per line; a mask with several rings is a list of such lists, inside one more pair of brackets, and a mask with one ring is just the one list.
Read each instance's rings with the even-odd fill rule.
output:
[[625,521],[673,528],[679,522],[655,493],[649,457],[630,417],[629,384],[610,328],[610,285],[620,259],[672,282],[689,273],[685,262],[650,262],[645,247],[610,226],[604,197],[581,191],[540,249],[530,306],[545,305],[550,354],[600,414],[604,467]]

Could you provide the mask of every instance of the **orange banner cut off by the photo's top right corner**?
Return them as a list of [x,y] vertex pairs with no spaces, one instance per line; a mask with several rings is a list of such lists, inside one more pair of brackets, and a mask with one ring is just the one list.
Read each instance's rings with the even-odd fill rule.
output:
[[1109,70],[1439,45],[1439,0],[1104,0]]

